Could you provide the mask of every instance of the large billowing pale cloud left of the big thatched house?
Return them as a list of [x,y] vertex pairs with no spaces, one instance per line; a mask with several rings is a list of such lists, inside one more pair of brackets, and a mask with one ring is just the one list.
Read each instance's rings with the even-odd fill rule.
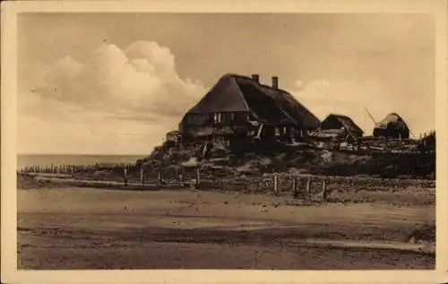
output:
[[179,78],[168,47],[137,41],[124,50],[103,44],[83,62],[70,56],[47,67],[34,92],[41,98],[120,116],[180,118],[200,99],[200,82]]

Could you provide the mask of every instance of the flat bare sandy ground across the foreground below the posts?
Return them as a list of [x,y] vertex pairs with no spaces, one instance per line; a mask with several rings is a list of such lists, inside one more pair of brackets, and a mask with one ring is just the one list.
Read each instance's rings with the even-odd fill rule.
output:
[[17,197],[20,269],[435,267],[434,254],[406,244],[415,228],[435,223],[427,203],[306,205],[286,196],[74,187]]

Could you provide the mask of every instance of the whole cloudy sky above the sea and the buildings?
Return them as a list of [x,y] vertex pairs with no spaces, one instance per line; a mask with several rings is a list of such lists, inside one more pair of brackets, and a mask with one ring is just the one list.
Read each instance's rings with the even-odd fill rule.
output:
[[17,40],[20,153],[149,154],[225,73],[366,134],[365,108],[435,129],[429,14],[22,13]]

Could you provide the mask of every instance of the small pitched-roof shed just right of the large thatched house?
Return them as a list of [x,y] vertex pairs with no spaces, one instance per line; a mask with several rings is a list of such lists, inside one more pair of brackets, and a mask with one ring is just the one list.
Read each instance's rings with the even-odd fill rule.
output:
[[330,114],[319,125],[319,133],[335,138],[358,139],[364,131],[349,116]]

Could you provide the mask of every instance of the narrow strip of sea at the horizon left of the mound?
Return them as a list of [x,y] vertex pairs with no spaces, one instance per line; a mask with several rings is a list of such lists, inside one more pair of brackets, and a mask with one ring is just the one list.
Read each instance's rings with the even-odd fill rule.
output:
[[134,164],[145,155],[18,154],[17,168],[50,165]]

